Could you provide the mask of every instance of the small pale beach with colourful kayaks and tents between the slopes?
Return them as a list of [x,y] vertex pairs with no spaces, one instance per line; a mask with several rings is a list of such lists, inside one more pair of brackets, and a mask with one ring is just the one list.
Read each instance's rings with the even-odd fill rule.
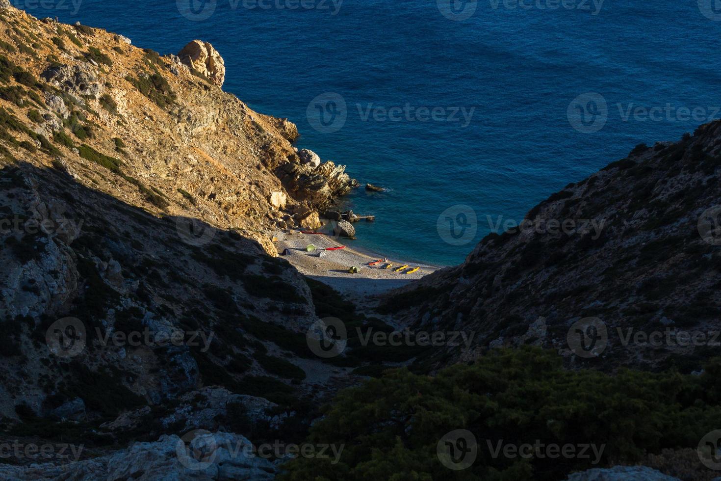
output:
[[[291,262],[301,274],[328,284],[342,294],[352,297],[372,296],[381,294],[394,288],[405,286],[410,281],[420,279],[424,275],[435,272],[438,267],[420,264],[418,262],[407,262],[389,257],[393,264],[391,269],[384,267],[388,262],[381,262],[376,266],[368,265],[384,258],[384,255],[369,255],[364,252],[345,247],[343,250],[324,251],[324,257],[318,257],[318,252],[329,247],[340,247],[340,239],[324,234],[303,234],[299,230],[278,231],[275,233],[278,242],[275,247],[278,253],[288,249],[290,255],[283,259]],[[307,252],[306,247],[313,244],[317,247],[315,252]],[[395,269],[402,265],[409,268],[403,272],[396,272]],[[360,268],[357,274],[348,273],[348,268],[353,265]],[[415,273],[407,274],[408,270],[420,267]]]

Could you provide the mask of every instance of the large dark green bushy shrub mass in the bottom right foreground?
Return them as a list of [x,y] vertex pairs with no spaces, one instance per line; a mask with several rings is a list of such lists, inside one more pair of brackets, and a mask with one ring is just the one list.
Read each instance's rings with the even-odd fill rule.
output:
[[[557,353],[528,346],[491,350],[434,377],[386,371],[340,392],[311,427],[309,442],[345,446],[340,462],[298,457],[279,479],[555,481],[573,471],[632,465],[663,449],[696,449],[721,416],[720,371],[721,361],[702,376],[570,371]],[[454,477],[437,446],[458,429],[474,433],[478,451]],[[536,441],[593,444],[599,459],[492,455],[495,446]]]

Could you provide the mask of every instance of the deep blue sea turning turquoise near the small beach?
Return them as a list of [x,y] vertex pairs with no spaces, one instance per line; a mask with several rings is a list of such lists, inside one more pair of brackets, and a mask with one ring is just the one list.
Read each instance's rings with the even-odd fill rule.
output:
[[[461,262],[499,219],[522,219],[636,144],[721,117],[710,0],[14,4],[161,53],[213,43],[224,89],[297,123],[299,147],[389,187],[346,200],[378,216],[358,224],[358,247],[437,264]],[[586,93],[600,97],[575,100]]]

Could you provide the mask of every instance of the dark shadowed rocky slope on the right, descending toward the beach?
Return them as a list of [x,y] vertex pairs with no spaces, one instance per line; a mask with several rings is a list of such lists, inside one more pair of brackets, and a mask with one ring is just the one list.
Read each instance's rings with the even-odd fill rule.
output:
[[[533,343],[574,366],[700,369],[718,355],[721,224],[709,209],[721,198],[720,167],[719,121],[678,142],[637,146],[532,208],[523,229],[490,234],[462,265],[394,293],[384,310],[413,328],[475,333],[472,350],[447,348],[436,366]],[[603,322],[608,339],[585,358],[567,334],[588,318]],[[662,335],[658,345],[624,345],[619,330]],[[706,337],[689,345],[677,331]]]

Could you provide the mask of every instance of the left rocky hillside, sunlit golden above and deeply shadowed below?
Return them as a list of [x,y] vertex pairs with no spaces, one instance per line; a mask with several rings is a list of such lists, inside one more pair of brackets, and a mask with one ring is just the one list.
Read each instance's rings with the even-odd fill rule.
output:
[[319,226],[357,183],[223,92],[207,43],[159,56],[12,6],[0,20],[3,437],[92,438],[94,457],[300,429],[350,369],[307,349],[313,295],[272,232]]

